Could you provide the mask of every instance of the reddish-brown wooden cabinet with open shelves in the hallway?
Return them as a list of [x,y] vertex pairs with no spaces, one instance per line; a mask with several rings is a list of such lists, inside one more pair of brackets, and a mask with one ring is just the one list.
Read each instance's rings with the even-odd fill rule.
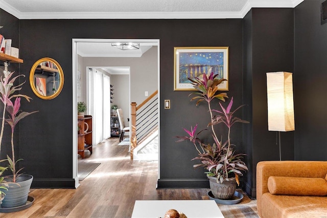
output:
[[92,116],[78,116],[77,154],[84,159],[84,151],[92,154]]

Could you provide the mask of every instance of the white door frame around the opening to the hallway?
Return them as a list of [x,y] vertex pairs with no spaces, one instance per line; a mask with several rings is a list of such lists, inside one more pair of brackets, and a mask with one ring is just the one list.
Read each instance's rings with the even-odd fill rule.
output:
[[[73,127],[77,123],[77,43],[78,42],[132,42],[132,43],[157,43],[158,52],[158,179],[160,179],[160,40],[159,39],[91,39],[91,38],[73,38],[72,39],[72,58],[73,58]],[[73,128],[73,172],[72,177],[75,179],[75,188],[79,184],[77,176],[77,128]]]

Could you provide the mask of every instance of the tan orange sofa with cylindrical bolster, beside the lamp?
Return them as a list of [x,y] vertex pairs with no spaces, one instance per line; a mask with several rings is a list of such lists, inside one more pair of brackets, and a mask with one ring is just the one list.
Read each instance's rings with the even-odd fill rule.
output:
[[[278,179],[284,183],[277,184]],[[256,199],[260,217],[327,217],[326,180],[327,161],[259,162]]]

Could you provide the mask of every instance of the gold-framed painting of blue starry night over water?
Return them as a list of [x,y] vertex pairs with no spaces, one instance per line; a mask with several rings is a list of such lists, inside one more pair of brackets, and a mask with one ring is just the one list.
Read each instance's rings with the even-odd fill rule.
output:
[[228,91],[228,50],[229,47],[174,47],[174,91],[196,90],[188,78],[211,72],[227,79],[218,88]]

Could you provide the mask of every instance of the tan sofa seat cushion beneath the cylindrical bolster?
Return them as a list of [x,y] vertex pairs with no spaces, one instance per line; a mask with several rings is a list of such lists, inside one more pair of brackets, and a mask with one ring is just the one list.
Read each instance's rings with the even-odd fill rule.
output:
[[324,217],[327,214],[327,198],[317,196],[262,195],[262,216],[276,217]]

